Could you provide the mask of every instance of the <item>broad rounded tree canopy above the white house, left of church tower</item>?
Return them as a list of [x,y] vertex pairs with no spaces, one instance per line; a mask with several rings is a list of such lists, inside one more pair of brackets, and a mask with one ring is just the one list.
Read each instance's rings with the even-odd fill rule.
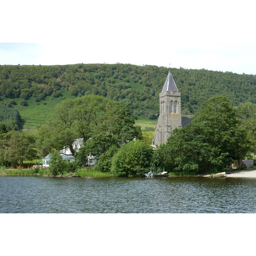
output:
[[[141,131],[134,125],[135,120],[127,106],[102,96],[65,99],[56,106],[49,124],[39,129],[37,145],[41,154],[66,146],[74,155],[74,140],[83,138],[86,148],[99,155],[111,143],[120,145],[127,140],[140,138]],[[100,146],[96,147],[96,143]]]

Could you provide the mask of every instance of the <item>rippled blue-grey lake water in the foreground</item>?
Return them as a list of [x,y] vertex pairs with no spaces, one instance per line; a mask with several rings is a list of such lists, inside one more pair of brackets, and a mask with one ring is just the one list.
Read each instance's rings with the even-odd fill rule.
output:
[[256,179],[0,176],[0,213],[256,213]]

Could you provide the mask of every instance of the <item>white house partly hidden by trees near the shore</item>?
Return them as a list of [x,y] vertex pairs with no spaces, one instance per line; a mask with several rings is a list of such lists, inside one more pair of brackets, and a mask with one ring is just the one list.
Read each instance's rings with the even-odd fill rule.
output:
[[[84,145],[84,139],[76,139],[74,140],[72,146],[76,151],[79,151],[79,149]],[[60,154],[63,159],[69,162],[73,162],[75,160],[75,157],[71,154],[70,148],[69,147],[64,147],[63,149],[60,150]],[[43,158],[43,167],[47,168],[49,167],[51,155],[47,155],[46,157]],[[95,156],[89,155],[87,156],[87,166],[93,166],[97,161],[97,158]]]

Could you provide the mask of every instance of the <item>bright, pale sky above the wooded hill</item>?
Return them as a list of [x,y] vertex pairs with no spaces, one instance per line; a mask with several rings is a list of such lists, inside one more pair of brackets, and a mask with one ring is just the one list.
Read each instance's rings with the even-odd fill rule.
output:
[[1,65],[129,63],[256,74],[253,0],[5,2]]

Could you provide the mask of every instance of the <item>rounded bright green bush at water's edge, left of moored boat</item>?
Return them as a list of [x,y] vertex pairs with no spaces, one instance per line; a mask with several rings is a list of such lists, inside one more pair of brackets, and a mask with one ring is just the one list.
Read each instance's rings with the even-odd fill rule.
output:
[[153,149],[137,140],[122,145],[112,158],[111,172],[116,176],[140,176],[142,169],[150,167]]

